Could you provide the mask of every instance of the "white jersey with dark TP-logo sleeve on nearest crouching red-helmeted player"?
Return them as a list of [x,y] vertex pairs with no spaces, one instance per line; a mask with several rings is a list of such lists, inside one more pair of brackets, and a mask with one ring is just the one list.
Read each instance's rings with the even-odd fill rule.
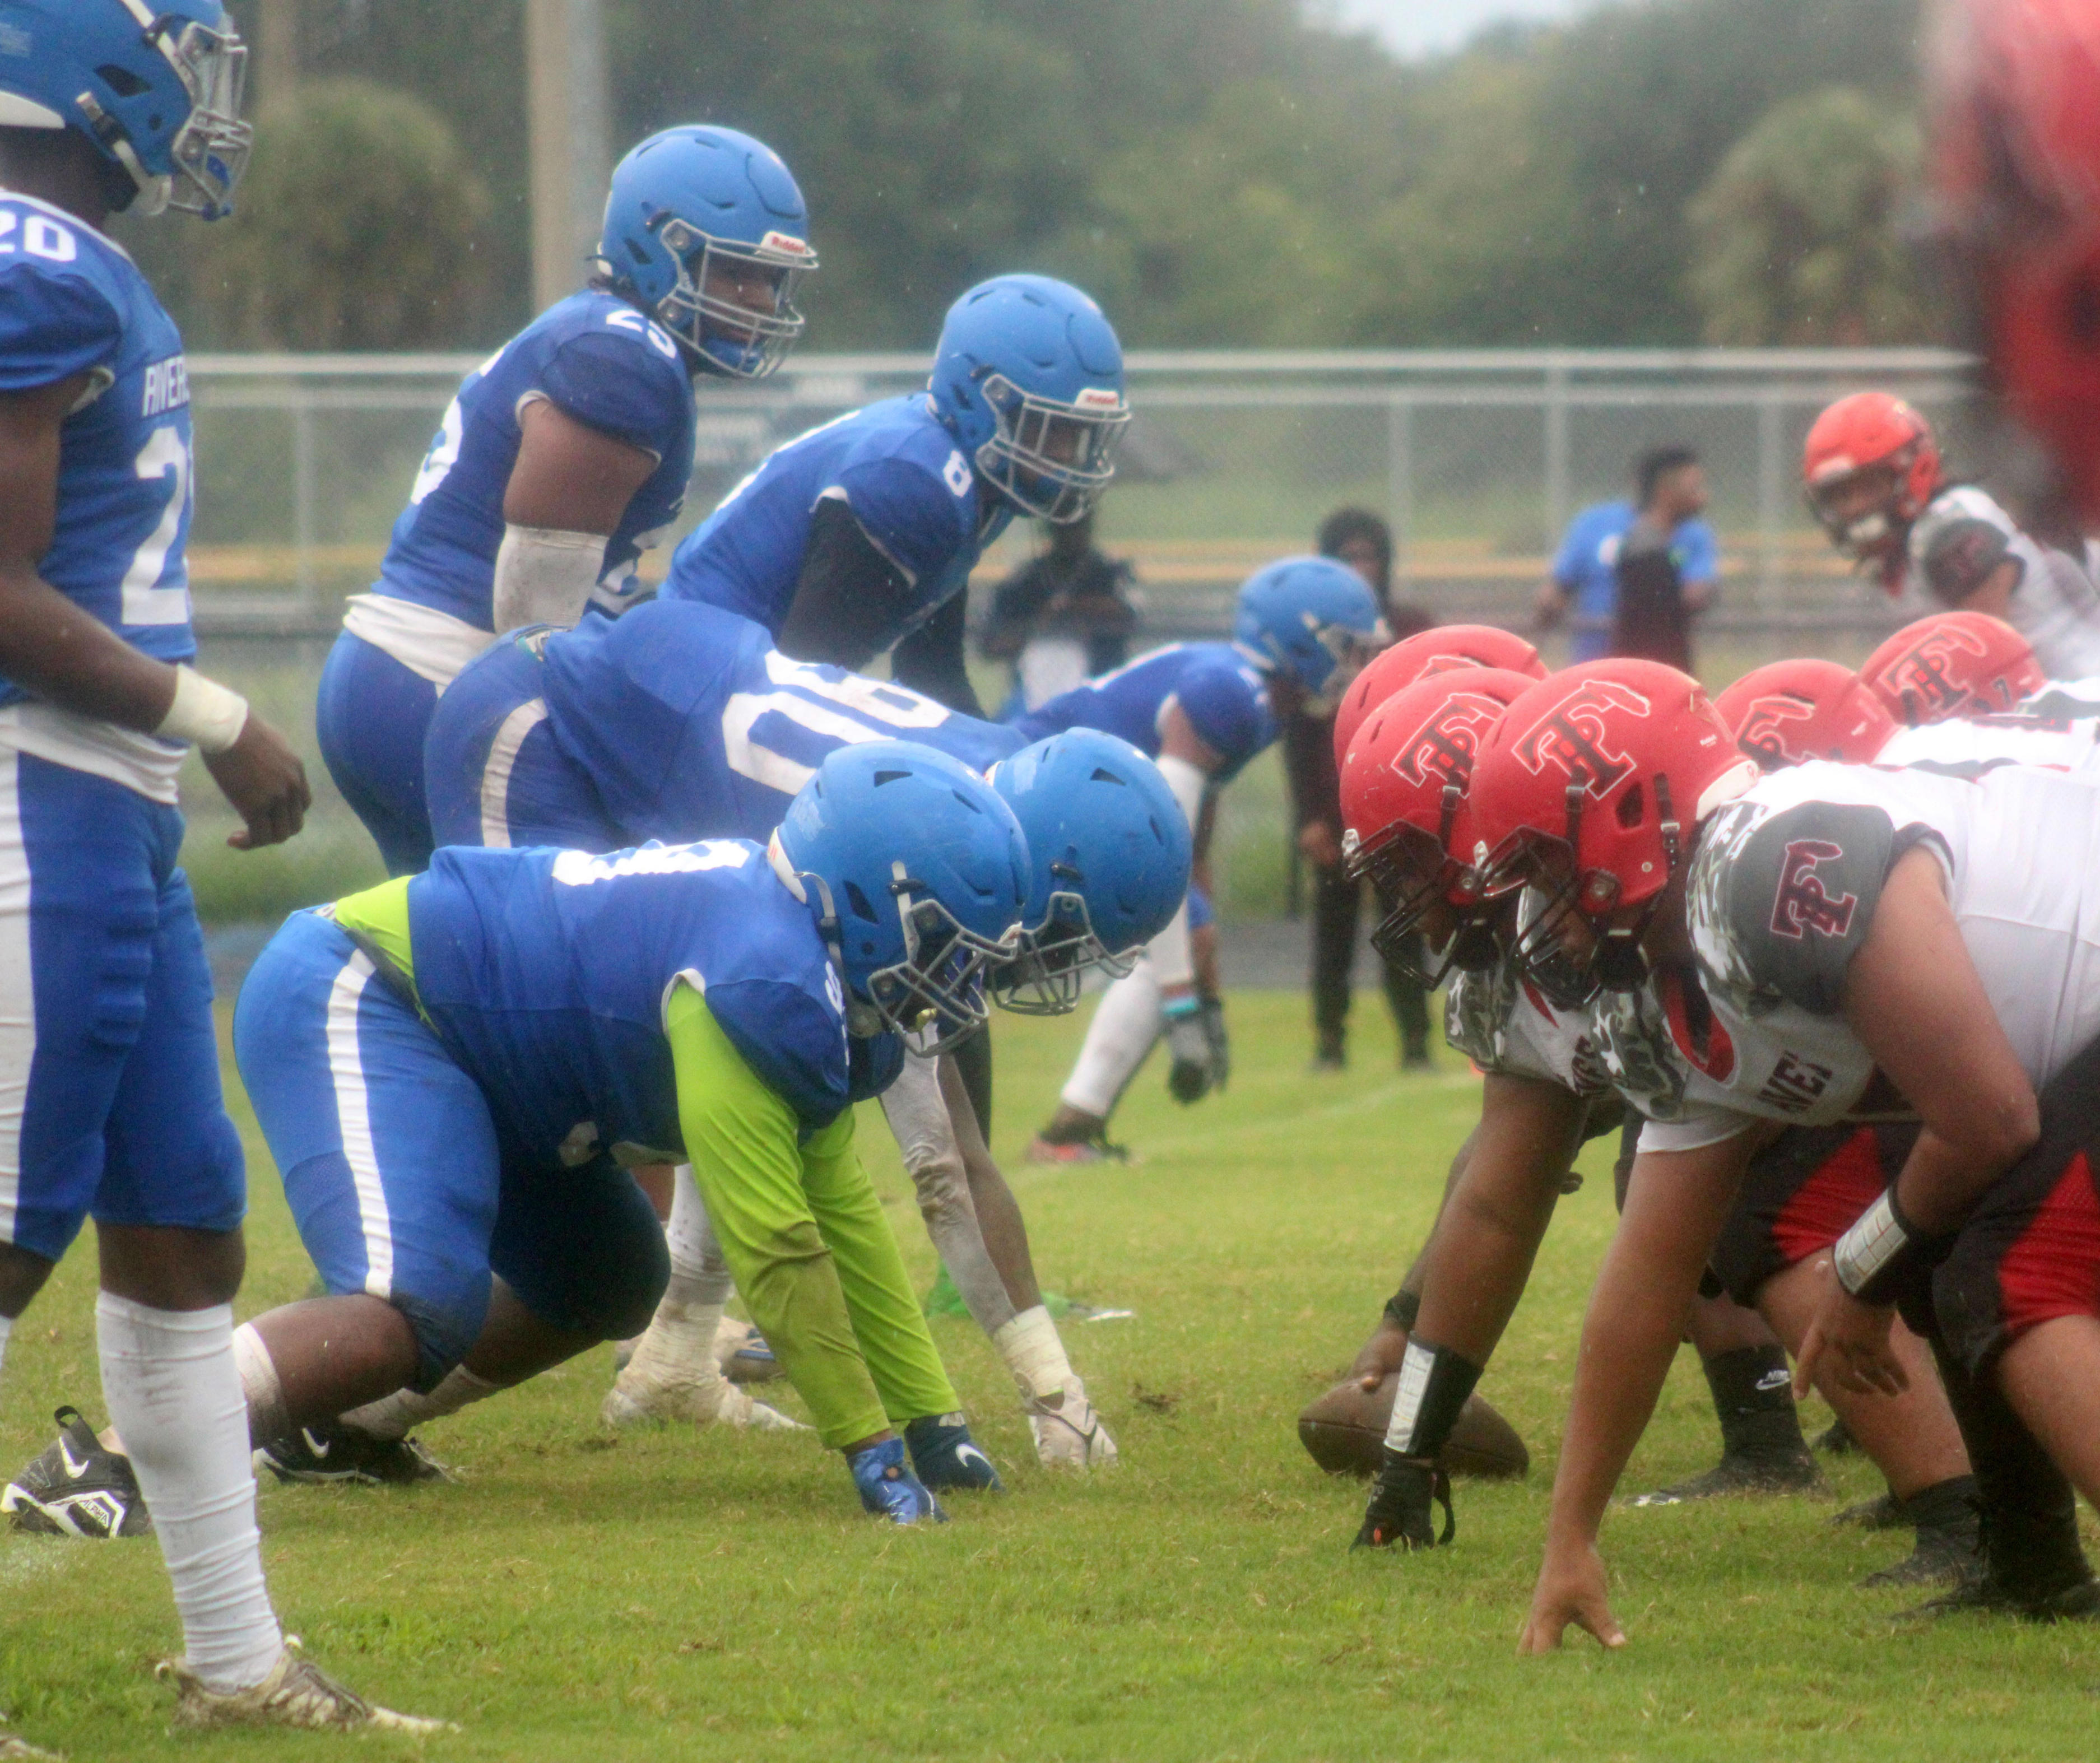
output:
[[[1793,766],[1701,829],[1686,890],[1697,972],[1592,1010],[1613,1081],[1653,1121],[1644,1148],[1690,1150],[1754,1119],[1888,1112],[1842,1016],[1844,974],[1890,869],[1919,844],[1947,871],[1961,940],[2029,1081],[2039,1089],[2100,1037],[2100,896],[2087,905],[2100,791],[2024,766],[1974,779]],[[1642,1020],[1670,1039],[1628,1033]],[[1630,1045],[1676,1058],[1642,1070]]]

